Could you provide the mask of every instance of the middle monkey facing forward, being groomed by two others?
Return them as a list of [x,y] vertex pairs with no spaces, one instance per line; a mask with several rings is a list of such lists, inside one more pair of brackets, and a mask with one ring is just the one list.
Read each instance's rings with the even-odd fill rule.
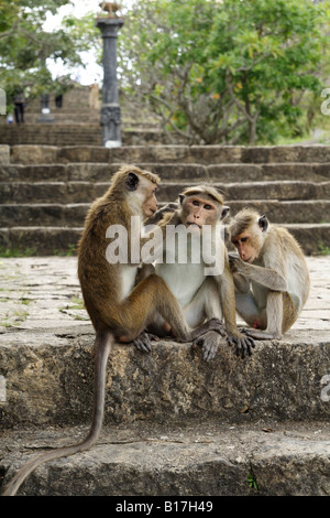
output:
[[[157,212],[155,217],[156,220],[160,219],[158,225],[163,231],[169,226],[176,228],[184,226],[188,230],[193,230],[191,236],[195,235],[195,238],[200,239],[202,228],[209,225],[215,231],[216,225],[227,216],[229,207],[224,206],[222,195],[215,187],[202,184],[188,187],[179,194],[177,208],[175,208],[175,204],[168,204],[161,211],[166,211],[166,214],[163,213],[160,219]],[[154,220],[153,217],[150,219],[150,222]],[[190,252],[194,246],[193,238],[190,241],[186,241],[180,239],[179,236],[178,239],[178,248],[180,246],[187,247],[188,252]],[[164,256],[167,251],[165,246]],[[206,274],[206,265],[200,255],[197,263],[189,260],[190,253],[189,257],[187,253],[186,263],[179,263],[178,250],[176,250],[175,261],[172,263],[166,259],[155,261],[155,272],[166,281],[166,284],[177,298],[191,327],[200,325],[205,319],[217,317],[221,320],[222,316],[224,317],[224,327],[222,330],[218,332],[209,331],[193,344],[193,347],[202,347],[202,357],[207,361],[215,358],[221,336],[224,336],[226,333],[228,343],[235,345],[237,353],[242,357],[246,354],[251,355],[254,347],[254,341],[249,339],[250,337],[246,339],[246,336],[244,337],[239,332],[235,324],[234,284],[223,242],[219,252],[223,256],[221,274]],[[147,269],[150,270],[150,266],[147,266]],[[148,328],[157,336],[164,336],[172,331],[170,326],[160,315],[157,315],[157,321],[154,320]],[[143,343],[141,347],[143,347]],[[148,348],[147,344],[145,344],[145,348]]]

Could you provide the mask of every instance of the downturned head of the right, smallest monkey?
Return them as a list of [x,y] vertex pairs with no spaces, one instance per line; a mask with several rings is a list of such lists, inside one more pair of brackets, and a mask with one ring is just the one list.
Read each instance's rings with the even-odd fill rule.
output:
[[265,235],[268,229],[268,219],[260,216],[252,208],[240,211],[229,225],[231,242],[237,247],[240,258],[245,262],[253,262],[260,256]]

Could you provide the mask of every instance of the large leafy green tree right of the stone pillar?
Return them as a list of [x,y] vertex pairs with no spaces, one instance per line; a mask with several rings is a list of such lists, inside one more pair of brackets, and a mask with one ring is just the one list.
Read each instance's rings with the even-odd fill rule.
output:
[[329,20],[328,1],[136,0],[122,82],[189,143],[274,141],[321,90]]

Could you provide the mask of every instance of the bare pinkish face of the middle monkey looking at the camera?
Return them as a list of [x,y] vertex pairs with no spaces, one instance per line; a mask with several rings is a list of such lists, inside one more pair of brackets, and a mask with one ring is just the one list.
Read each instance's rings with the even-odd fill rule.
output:
[[183,204],[183,224],[200,230],[204,225],[213,225],[219,219],[216,203],[202,196],[189,196]]

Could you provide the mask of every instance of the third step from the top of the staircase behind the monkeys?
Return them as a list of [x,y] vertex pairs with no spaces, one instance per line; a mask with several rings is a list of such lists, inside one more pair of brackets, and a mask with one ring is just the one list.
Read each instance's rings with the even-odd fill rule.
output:
[[[198,182],[163,182],[157,192],[160,202],[175,201],[178,194]],[[328,199],[330,198],[329,182],[212,182],[226,199]],[[0,203],[90,203],[101,196],[110,186],[110,182],[0,182]]]

